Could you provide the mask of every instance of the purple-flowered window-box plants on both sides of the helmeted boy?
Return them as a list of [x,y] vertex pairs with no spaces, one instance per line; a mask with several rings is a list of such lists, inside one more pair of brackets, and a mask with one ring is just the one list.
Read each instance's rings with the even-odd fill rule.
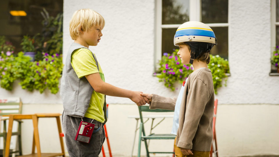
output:
[[[159,72],[157,75],[159,82],[164,82],[164,86],[175,90],[174,83],[179,81],[182,83],[193,72],[191,64],[183,65],[180,58],[177,57],[178,49],[174,50],[172,54],[164,53],[162,60],[159,61]],[[230,73],[228,60],[224,60],[219,55],[210,55],[210,63],[208,68],[212,72],[212,79],[214,84],[214,92],[217,94],[217,88],[222,87],[222,79],[228,77],[226,73]],[[226,86],[225,80],[225,86]]]

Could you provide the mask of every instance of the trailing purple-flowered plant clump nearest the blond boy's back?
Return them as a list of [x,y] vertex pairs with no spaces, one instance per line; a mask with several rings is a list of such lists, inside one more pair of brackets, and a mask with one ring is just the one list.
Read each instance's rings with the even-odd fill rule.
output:
[[49,55],[44,53],[44,59],[33,62],[29,67],[25,79],[20,82],[23,89],[29,91],[39,90],[40,93],[48,88],[51,93],[56,94],[59,90],[58,84],[62,74],[62,55],[56,53]]

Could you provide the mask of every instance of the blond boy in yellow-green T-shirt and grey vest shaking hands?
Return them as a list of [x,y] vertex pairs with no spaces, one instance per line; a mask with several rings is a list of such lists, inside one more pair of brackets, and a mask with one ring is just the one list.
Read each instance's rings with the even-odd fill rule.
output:
[[[107,121],[105,95],[126,97],[138,106],[149,103],[141,92],[105,83],[103,70],[95,54],[88,49],[100,42],[104,26],[104,18],[91,9],[77,10],[70,20],[70,36],[74,43],[66,56],[60,88],[64,107],[62,125],[70,157],[100,154],[105,140],[103,125]],[[81,121],[95,124],[90,140],[85,136],[75,140]]]

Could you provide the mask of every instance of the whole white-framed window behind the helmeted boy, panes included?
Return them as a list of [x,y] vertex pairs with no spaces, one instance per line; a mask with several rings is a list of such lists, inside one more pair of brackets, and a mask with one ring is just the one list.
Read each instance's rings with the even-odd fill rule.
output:
[[156,57],[172,53],[176,29],[187,21],[200,21],[212,28],[217,46],[211,54],[228,59],[228,0],[156,0]]

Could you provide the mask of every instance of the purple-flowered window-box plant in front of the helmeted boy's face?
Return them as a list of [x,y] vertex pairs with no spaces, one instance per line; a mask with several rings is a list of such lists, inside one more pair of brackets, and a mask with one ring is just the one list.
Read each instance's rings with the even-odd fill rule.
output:
[[178,49],[174,50],[172,54],[164,53],[162,60],[160,60],[159,72],[157,75],[159,82],[164,82],[164,86],[175,90],[174,83],[179,81],[183,83],[185,79],[193,72],[193,67],[190,64],[183,65],[179,57],[177,57]]

